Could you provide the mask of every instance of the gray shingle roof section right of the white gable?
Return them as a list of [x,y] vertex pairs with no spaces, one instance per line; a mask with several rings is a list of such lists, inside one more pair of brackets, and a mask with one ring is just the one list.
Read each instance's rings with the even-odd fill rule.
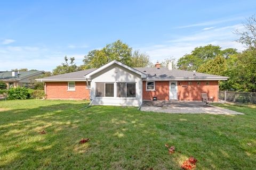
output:
[[[135,67],[134,69],[146,73],[147,78],[171,79],[171,78],[227,78],[219,75],[204,74],[198,72],[191,72],[185,70],[172,69],[168,70],[166,67],[157,69],[156,67]],[[145,72],[146,71],[146,72]],[[156,75],[155,75],[156,74]]]

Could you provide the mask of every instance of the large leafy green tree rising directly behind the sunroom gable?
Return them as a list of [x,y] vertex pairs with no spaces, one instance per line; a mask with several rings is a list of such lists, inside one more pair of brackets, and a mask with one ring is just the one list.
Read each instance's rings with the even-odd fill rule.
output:
[[117,40],[114,43],[107,44],[102,49],[95,49],[84,57],[82,69],[98,68],[113,60],[119,61],[126,65],[132,63],[132,48],[127,44]]

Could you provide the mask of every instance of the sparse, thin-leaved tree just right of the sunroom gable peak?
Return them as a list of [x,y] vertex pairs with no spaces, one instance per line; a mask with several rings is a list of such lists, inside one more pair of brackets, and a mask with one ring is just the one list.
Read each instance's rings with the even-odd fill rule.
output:
[[140,53],[139,50],[135,50],[132,55],[131,65],[132,67],[151,67],[153,63],[149,60],[149,55],[146,53]]

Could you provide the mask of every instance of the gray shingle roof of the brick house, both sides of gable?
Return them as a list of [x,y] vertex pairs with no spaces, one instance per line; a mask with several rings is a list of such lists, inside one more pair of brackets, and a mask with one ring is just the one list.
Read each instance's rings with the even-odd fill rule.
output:
[[[149,79],[205,79],[205,78],[215,78],[215,79],[227,79],[227,77],[222,77],[219,75],[204,74],[198,72],[184,71],[184,70],[168,70],[166,67],[161,67],[157,69],[156,67],[134,67],[134,69],[147,74]],[[66,79],[85,79],[84,75],[89,74],[90,72],[96,69],[87,69],[72,73],[53,75],[51,77],[42,78],[39,80],[66,80]],[[146,72],[145,72],[146,71]],[[155,75],[156,74],[156,75]]]

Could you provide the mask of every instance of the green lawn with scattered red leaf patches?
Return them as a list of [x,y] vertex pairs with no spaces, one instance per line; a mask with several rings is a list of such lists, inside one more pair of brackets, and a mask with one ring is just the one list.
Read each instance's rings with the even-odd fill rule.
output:
[[245,113],[230,116],[87,105],[0,101],[0,169],[180,169],[189,156],[196,169],[255,169],[254,106],[218,104]]

